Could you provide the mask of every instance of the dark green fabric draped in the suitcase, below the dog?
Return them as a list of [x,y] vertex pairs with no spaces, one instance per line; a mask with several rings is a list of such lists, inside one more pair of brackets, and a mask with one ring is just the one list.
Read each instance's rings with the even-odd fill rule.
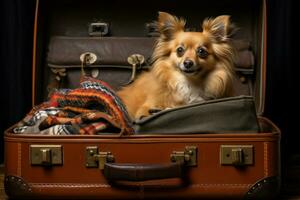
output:
[[167,109],[135,122],[137,134],[257,133],[253,97],[237,96]]

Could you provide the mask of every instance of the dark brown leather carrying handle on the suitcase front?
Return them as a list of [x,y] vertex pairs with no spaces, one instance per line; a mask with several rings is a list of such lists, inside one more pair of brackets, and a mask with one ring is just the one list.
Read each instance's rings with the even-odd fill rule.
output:
[[182,178],[184,168],[183,162],[170,164],[105,163],[103,173],[109,181],[146,181]]

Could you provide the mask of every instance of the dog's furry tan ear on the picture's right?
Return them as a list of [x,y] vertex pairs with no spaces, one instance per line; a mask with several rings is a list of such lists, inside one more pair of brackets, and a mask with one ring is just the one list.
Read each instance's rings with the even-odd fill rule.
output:
[[202,28],[203,33],[210,34],[218,42],[224,42],[231,36],[234,25],[230,22],[229,15],[221,15],[205,19]]

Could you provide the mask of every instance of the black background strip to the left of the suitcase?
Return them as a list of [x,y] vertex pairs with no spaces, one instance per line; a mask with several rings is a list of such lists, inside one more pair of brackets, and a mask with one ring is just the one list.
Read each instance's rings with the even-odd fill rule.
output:
[[0,0],[0,162],[3,132],[31,107],[34,0]]

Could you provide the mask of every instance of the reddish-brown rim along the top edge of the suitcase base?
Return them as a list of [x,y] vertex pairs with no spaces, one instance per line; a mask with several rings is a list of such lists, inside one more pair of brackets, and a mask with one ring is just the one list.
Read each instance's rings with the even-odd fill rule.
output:
[[[195,134],[195,135],[130,135],[123,136],[122,138],[117,137],[106,137],[105,136],[94,136],[94,135],[72,135],[72,136],[40,136],[40,135],[14,135],[12,133],[5,134],[5,141],[10,142],[60,142],[60,143],[86,143],[95,142],[99,139],[103,142],[110,143],[164,143],[164,142],[216,142],[216,141],[277,141],[279,134],[276,133],[258,133],[258,134]],[[213,138],[213,141],[212,141]],[[180,139],[180,140],[178,140]]]

